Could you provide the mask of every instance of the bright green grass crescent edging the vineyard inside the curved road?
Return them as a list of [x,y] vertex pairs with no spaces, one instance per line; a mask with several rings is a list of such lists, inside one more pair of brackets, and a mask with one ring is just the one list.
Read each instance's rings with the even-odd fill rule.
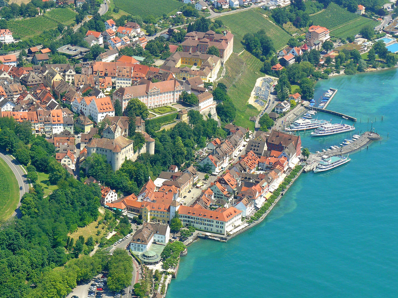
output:
[[[5,221],[12,216],[12,213],[14,213],[14,210],[17,208],[20,194],[17,178],[15,178],[14,173],[3,159],[0,159],[0,175],[6,177],[9,189],[9,197],[4,198],[7,201],[4,205],[0,205],[0,220]],[[7,188],[5,185],[3,185],[3,187]]]

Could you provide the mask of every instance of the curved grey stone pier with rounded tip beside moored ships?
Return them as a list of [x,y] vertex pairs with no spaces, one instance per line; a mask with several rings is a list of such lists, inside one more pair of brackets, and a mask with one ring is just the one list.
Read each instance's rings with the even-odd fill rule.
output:
[[311,154],[307,159],[307,164],[304,166],[304,172],[309,172],[314,170],[318,165],[319,161],[322,159],[323,155],[328,156],[336,156],[336,155],[345,155],[354,151],[361,149],[362,147],[369,144],[371,141],[376,141],[380,139],[380,135],[375,132],[365,132],[361,135],[361,137],[351,144],[343,146],[339,149],[333,149],[326,152],[314,153]]

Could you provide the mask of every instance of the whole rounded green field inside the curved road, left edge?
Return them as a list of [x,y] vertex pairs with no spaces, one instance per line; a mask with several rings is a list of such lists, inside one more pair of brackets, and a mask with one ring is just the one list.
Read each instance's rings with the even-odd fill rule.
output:
[[18,206],[20,188],[17,178],[3,159],[0,159],[0,182],[0,221],[5,221]]

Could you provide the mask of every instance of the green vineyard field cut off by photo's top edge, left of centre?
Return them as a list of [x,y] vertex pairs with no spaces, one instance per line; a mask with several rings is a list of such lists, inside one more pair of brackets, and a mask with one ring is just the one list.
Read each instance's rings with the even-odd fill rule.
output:
[[177,0],[115,0],[114,2],[115,7],[142,18],[148,15],[160,17],[163,14],[170,14],[184,5]]

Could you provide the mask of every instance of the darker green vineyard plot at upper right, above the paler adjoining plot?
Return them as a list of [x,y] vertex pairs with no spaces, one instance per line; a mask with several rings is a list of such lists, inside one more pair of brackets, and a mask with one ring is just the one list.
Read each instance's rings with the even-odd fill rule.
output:
[[[310,16],[314,25],[319,25],[332,30],[336,27],[341,26],[343,23],[358,18],[357,14],[349,12],[345,8],[338,6],[337,4],[331,3],[329,6],[319,14]],[[361,17],[364,18],[365,17]],[[361,29],[361,28],[359,28]]]

